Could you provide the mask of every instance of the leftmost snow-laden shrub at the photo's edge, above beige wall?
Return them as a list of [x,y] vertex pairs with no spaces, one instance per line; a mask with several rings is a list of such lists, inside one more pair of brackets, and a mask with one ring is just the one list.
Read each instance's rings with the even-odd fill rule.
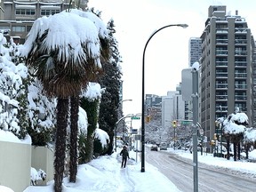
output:
[[0,127],[13,132],[20,139],[27,134],[27,86],[28,68],[19,63],[15,65],[3,34],[0,33]]

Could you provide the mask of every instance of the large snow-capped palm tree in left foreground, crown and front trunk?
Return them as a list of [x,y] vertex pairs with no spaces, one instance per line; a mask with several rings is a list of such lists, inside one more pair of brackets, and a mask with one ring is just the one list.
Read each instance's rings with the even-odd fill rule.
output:
[[77,99],[81,88],[86,87],[101,68],[100,37],[108,36],[104,28],[99,28],[97,20],[81,17],[82,14],[80,11],[60,12],[37,19],[20,50],[27,58],[27,65],[42,82],[46,94],[58,98],[54,160],[56,192],[61,191],[63,180],[68,99]]

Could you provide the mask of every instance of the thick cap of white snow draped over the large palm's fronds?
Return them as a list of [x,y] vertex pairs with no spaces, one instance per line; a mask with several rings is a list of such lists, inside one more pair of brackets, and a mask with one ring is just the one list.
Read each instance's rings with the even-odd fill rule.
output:
[[89,56],[100,65],[98,29],[92,20],[72,12],[60,12],[37,19],[21,50],[21,54],[25,57],[29,52],[30,54],[37,51],[39,54],[56,52],[55,59],[67,64],[84,62]]

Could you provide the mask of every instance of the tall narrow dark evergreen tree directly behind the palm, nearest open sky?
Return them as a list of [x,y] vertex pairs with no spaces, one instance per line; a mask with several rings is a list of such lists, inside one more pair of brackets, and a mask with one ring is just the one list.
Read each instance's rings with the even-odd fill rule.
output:
[[108,36],[110,44],[110,60],[108,62],[102,62],[102,68],[104,71],[103,76],[100,77],[100,86],[105,88],[105,92],[101,96],[100,100],[100,116],[99,127],[108,133],[109,147],[106,154],[110,155],[113,151],[113,140],[116,122],[118,120],[117,108],[120,103],[119,94],[121,87],[121,68],[119,66],[122,62],[118,52],[118,46],[114,34],[114,20],[108,22]]

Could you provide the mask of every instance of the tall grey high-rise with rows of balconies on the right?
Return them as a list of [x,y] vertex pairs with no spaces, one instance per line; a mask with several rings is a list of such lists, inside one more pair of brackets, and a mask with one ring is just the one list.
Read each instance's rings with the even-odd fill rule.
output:
[[215,120],[239,109],[252,125],[252,63],[255,50],[247,22],[228,15],[226,6],[210,6],[202,39],[199,121],[212,140]]

